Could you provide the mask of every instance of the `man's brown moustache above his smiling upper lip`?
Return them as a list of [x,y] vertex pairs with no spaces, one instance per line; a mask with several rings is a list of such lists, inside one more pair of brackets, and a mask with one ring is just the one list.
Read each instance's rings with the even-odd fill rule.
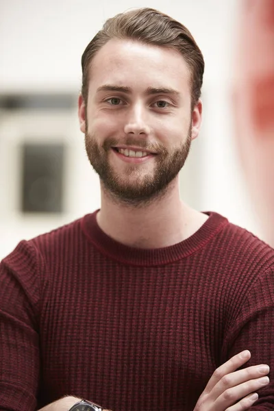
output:
[[140,140],[140,138],[136,138],[133,136],[127,136],[126,138],[121,139],[108,138],[103,142],[102,147],[105,151],[108,151],[112,147],[119,145],[139,147],[140,149],[142,149],[142,151],[155,151],[156,153],[167,152],[166,148],[160,145],[158,142],[147,142],[145,140]]

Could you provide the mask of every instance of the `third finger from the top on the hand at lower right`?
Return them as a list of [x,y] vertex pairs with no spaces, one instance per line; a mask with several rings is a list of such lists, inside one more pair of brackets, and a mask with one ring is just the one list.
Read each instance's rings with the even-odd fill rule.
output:
[[261,377],[258,379],[251,379],[236,387],[229,388],[216,399],[214,402],[214,410],[226,410],[240,399],[254,393],[267,384],[269,384],[269,377]]

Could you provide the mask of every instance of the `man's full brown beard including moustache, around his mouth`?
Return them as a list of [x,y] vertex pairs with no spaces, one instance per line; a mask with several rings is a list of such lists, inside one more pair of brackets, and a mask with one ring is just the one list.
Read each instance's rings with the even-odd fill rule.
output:
[[[106,193],[112,195],[116,201],[131,206],[142,206],[151,203],[164,195],[169,184],[175,179],[184,166],[191,145],[191,125],[184,143],[169,151],[163,145],[149,144],[140,138],[128,136],[123,140],[108,138],[99,145],[93,134],[85,134],[86,153],[90,164],[99,175],[101,184]],[[145,174],[142,164],[128,163],[124,175],[117,173],[111,166],[108,156],[112,147],[128,145],[140,147],[141,151],[153,151],[155,166]]]

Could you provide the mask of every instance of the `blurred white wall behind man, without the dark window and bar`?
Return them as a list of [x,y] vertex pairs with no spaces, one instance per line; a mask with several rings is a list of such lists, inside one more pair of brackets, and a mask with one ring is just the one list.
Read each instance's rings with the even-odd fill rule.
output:
[[[238,0],[0,0],[0,94],[69,91],[75,93],[76,103],[80,60],[88,42],[106,18],[144,6],[158,8],[184,23],[206,60],[203,132],[200,142],[195,142],[199,150],[194,147],[182,176],[182,182],[187,180],[186,197],[197,208],[225,214],[260,236],[235,152],[229,105]],[[36,116],[29,125],[0,113],[0,258],[21,238],[99,208],[99,183],[86,160],[76,114],[75,104],[69,115],[54,119],[49,112]],[[40,130],[45,132],[47,127],[49,134],[56,130],[68,142],[66,212],[25,216],[18,212],[18,142],[25,134],[40,138]],[[195,156],[195,150],[199,155]],[[197,170],[198,179],[194,178]]]

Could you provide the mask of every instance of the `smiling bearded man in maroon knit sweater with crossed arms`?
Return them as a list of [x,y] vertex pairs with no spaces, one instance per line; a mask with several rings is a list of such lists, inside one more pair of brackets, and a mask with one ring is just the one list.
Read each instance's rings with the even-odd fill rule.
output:
[[179,199],[199,47],[134,10],[105,23],[82,69],[101,209],[3,260],[0,408],[237,411],[258,390],[254,410],[273,408],[274,252]]

